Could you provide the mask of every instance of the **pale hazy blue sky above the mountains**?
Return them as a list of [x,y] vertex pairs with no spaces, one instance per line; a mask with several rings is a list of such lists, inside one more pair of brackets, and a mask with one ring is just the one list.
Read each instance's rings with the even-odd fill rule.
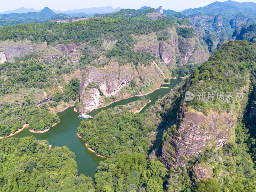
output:
[[[225,0],[220,0],[221,2]],[[256,0],[236,0],[237,2],[254,2]],[[157,8],[162,6],[164,9],[172,9],[175,11],[202,7],[215,2],[214,0],[1,0],[0,12],[18,9],[20,7],[42,9],[49,7],[50,9],[66,11],[68,9],[80,9],[89,7],[112,6],[113,8],[133,8],[139,9],[142,6],[150,6]]]

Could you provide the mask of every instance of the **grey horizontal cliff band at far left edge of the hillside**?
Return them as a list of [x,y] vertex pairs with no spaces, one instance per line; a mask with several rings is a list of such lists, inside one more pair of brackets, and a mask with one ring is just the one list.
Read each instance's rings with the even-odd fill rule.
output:
[[13,61],[14,57],[21,57],[30,52],[36,52],[41,49],[48,49],[46,43],[44,44],[32,44],[30,41],[5,41],[0,43],[0,48],[3,49],[8,62]]

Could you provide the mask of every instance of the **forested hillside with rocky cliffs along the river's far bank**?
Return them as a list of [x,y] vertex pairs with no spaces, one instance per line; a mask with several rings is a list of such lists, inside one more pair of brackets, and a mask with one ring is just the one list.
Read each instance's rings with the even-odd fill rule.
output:
[[[188,75],[207,59],[208,50],[195,29],[179,22],[108,17],[0,28],[1,136],[24,123],[43,131],[59,120],[52,112],[74,105],[88,112],[150,92],[172,75]],[[106,77],[113,67],[116,76],[112,71],[109,81],[116,81],[116,87],[108,88],[108,81],[95,73]],[[99,89],[89,86],[93,82]],[[91,96],[95,91],[97,98]]]

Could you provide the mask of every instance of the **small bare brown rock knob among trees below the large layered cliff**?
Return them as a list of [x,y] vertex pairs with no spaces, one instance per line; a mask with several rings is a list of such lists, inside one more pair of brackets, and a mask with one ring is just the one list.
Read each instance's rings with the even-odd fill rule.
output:
[[204,163],[195,164],[189,168],[189,172],[194,184],[204,179],[212,178],[212,167],[207,166]]

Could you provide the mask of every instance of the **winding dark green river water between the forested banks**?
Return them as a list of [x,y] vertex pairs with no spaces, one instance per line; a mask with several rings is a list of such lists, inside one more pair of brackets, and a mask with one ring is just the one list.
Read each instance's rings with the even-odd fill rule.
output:
[[[143,112],[150,105],[154,104],[158,99],[158,96],[161,97],[167,94],[175,87],[176,84],[181,82],[181,78],[172,79],[170,84],[163,84],[161,87],[168,87],[169,89],[157,89],[152,93],[149,93],[151,102],[148,103],[145,108],[141,110]],[[107,107],[94,109],[88,115],[95,116],[100,110],[105,110],[108,108],[116,107],[117,105],[124,105],[132,101],[138,100],[140,97],[135,96],[128,99],[116,101]],[[140,112],[140,113],[141,113]],[[78,118],[79,114],[74,111],[73,107],[66,109],[58,113],[60,117],[60,123],[52,127],[49,131],[45,133],[31,133],[29,128],[23,129],[21,132],[16,133],[12,137],[27,137],[33,135],[38,140],[48,140],[49,145],[53,147],[56,146],[67,146],[69,150],[73,151],[76,154],[76,162],[78,166],[79,174],[83,173],[86,176],[94,178],[97,166],[100,161],[104,161],[105,158],[97,156],[94,152],[90,151],[84,144],[84,140],[77,136],[77,127],[79,127],[82,118]]]

